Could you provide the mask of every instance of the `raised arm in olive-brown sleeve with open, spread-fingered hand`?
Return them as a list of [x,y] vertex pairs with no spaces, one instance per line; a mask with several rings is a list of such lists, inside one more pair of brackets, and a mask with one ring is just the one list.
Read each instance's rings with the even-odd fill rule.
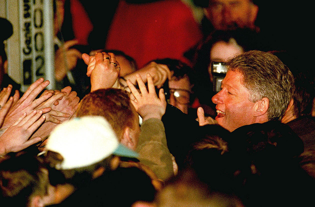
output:
[[164,91],[160,89],[159,97],[157,97],[150,74],[147,74],[148,90],[139,74],[137,82],[141,94],[130,80],[127,81],[131,93],[135,97],[135,100],[131,102],[142,117],[136,152],[140,155],[140,163],[150,167],[161,180],[166,180],[174,175],[174,171],[172,155],[167,147],[165,129],[161,121],[166,109]]

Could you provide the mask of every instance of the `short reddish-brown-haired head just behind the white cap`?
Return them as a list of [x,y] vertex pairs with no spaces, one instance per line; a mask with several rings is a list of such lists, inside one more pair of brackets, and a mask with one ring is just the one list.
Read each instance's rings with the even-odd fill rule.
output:
[[112,126],[117,138],[123,130],[135,124],[135,112],[128,94],[120,89],[99,89],[84,96],[77,117],[95,115],[104,117]]

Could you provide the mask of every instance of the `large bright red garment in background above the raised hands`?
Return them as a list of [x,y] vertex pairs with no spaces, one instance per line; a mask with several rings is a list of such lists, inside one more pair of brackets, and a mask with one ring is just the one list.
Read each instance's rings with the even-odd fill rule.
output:
[[192,11],[180,0],[126,3],[121,0],[108,31],[105,49],[133,57],[139,68],[160,58],[187,63],[183,53],[202,38]]

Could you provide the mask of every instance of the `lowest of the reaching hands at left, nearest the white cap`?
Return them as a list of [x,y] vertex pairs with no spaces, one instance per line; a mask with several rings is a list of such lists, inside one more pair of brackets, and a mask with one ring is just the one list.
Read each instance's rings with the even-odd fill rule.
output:
[[40,142],[40,137],[29,139],[32,133],[45,121],[42,110],[26,112],[0,136],[0,155],[18,152]]

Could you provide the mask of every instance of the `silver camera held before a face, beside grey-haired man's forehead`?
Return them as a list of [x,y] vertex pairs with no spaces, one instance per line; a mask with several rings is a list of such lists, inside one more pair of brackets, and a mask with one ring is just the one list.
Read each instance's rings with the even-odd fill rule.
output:
[[211,62],[211,73],[213,76],[213,91],[219,92],[221,90],[221,81],[224,79],[227,72],[227,65],[225,62]]

